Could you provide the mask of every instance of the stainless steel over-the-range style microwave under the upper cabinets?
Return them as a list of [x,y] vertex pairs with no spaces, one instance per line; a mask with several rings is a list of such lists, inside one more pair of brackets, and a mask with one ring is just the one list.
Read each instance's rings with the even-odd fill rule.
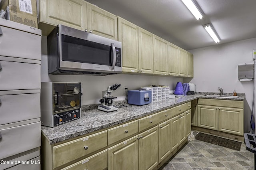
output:
[[63,25],[47,37],[48,73],[109,75],[122,72],[122,43]]

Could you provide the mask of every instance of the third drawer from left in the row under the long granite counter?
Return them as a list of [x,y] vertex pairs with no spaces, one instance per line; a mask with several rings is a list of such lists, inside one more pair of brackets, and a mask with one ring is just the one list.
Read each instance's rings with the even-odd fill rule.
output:
[[150,128],[158,123],[159,123],[158,113],[139,119],[139,131]]

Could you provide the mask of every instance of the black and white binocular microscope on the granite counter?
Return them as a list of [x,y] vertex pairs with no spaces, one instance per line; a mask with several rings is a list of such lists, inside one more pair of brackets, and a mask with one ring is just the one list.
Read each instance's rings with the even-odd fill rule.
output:
[[100,99],[100,105],[98,105],[98,109],[105,112],[117,111],[118,107],[113,105],[113,99],[117,97],[111,96],[112,90],[116,90],[120,87],[120,84],[114,84],[109,86],[106,91],[102,91],[102,98]]

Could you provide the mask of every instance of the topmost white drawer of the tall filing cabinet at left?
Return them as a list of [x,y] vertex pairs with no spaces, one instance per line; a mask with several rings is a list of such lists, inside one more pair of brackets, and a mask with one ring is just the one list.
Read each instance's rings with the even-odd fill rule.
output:
[[3,33],[0,36],[0,55],[41,60],[41,36],[4,26],[0,28]]

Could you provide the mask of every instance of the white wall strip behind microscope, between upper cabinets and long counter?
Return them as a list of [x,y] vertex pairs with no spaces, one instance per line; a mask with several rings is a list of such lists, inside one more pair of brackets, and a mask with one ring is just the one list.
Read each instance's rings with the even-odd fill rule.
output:
[[177,82],[183,82],[182,78],[149,75],[48,75],[47,68],[47,37],[42,36],[41,81],[81,82],[83,88],[82,105],[99,103],[102,91],[116,83],[121,84],[121,87],[112,91],[112,96],[118,97],[116,100],[119,101],[125,99],[124,86],[128,87],[129,90],[135,90],[148,85],[169,85],[170,89],[174,90]]

